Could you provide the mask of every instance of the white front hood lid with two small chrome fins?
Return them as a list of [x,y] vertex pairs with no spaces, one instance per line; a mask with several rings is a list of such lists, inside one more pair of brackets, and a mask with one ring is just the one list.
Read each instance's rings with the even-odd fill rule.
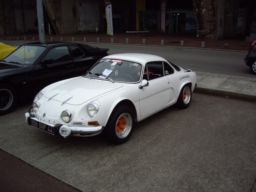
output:
[[48,100],[57,100],[70,105],[80,105],[121,87],[123,86],[117,83],[79,77],[51,89],[45,94],[45,97]]

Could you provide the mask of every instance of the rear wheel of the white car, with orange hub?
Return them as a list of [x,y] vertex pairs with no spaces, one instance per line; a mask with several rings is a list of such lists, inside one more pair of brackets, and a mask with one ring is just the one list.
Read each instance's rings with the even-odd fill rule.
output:
[[192,92],[191,92],[191,85],[186,84],[182,87],[180,90],[180,95],[178,97],[178,100],[176,102],[176,107],[178,108],[188,108],[192,98]]

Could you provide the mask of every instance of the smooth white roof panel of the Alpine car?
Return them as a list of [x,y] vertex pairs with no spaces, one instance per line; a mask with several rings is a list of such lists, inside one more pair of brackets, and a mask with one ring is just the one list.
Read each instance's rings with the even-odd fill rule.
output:
[[144,53],[119,53],[108,55],[104,59],[118,59],[118,60],[131,60],[142,64],[146,64],[150,61],[167,61],[163,57]]

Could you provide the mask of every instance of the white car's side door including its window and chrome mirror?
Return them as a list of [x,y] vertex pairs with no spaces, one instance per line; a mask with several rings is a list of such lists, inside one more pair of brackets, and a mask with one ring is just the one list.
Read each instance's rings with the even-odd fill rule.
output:
[[162,61],[147,63],[143,79],[148,80],[149,85],[139,89],[140,116],[167,105],[171,93],[169,79],[164,76]]

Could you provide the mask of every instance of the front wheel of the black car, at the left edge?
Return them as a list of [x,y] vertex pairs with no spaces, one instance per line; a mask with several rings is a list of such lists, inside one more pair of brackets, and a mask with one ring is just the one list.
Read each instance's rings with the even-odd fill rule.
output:
[[0,84],[0,115],[10,113],[17,103],[17,94],[8,84]]

